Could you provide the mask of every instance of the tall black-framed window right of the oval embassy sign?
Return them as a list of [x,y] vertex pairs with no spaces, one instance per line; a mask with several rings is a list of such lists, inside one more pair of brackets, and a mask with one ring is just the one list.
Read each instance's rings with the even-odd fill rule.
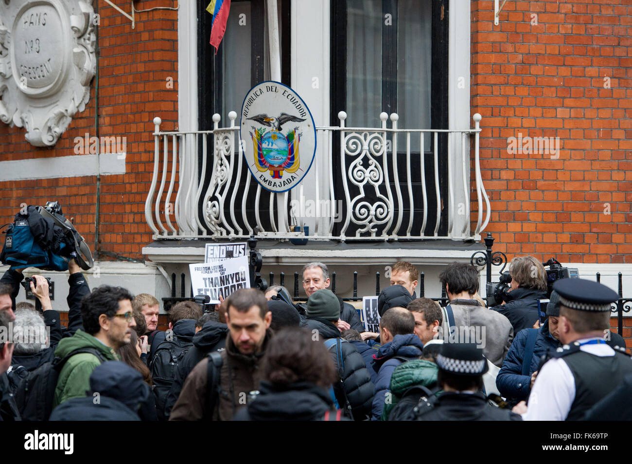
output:
[[[447,0],[332,0],[331,124],[339,124],[337,114],[344,110],[346,126],[378,128],[380,112],[389,116],[396,112],[399,129],[447,129],[447,13]],[[391,126],[390,121],[387,126]],[[390,134],[389,139],[392,141]],[[398,152],[405,153],[405,147],[405,136],[400,134]],[[446,198],[444,134],[439,136],[437,148],[439,190]],[[336,144],[334,150],[339,150]],[[430,134],[426,134],[423,147],[418,138],[411,137],[411,166],[406,166],[406,157],[400,155],[396,167],[398,172],[410,168],[417,173],[418,179],[414,175],[411,179],[419,197],[422,152],[426,184],[434,186],[434,140]],[[339,153],[334,153],[334,160],[338,159]],[[347,166],[352,161],[346,157]],[[392,184],[390,165],[389,170]],[[341,193],[343,173],[335,168],[334,172],[334,189]],[[432,205],[436,202],[434,189],[428,188],[427,193],[428,205]],[[367,201],[371,201],[370,196]],[[422,206],[416,202],[410,211],[406,203],[404,199],[405,214],[414,215],[413,229],[418,230]],[[435,218],[436,208],[428,208],[425,234],[434,234]],[[403,229],[396,231],[398,235],[405,234]],[[446,230],[447,215],[442,215],[439,234],[446,234]]]

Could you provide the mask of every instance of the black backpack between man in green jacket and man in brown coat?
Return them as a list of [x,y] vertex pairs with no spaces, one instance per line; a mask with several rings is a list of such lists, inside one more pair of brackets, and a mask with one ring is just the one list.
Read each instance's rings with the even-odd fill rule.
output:
[[154,382],[154,398],[156,413],[159,420],[166,420],[164,405],[171,390],[171,384],[176,377],[179,360],[183,359],[189,348],[193,346],[193,339],[187,336],[174,336],[173,340],[164,340],[155,350],[154,357],[149,363],[149,371]]

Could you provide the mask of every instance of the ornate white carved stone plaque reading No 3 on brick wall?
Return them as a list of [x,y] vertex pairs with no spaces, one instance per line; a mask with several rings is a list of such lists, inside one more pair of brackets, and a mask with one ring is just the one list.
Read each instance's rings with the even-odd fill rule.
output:
[[92,0],[0,1],[0,121],[52,146],[90,98]]

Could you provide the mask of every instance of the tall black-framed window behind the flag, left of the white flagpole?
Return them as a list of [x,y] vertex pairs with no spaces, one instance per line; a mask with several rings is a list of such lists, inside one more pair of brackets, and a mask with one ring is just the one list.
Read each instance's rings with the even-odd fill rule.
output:
[[[267,12],[264,0],[232,0],[231,10],[226,23],[226,32],[217,54],[209,44],[212,16],[205,11],[208,2],[198,3],[198,124],[200,131],[213,129],[212,116],[219,113],[220,127],[229,127],[228,113],[234,111],[238,118],[246,93],[257,83],[270,80],[270,53],[267,25]],[[281,82],[289,85],[289,6],[290,0],[278,1],[279,13],[279,45],[281,47]],[[239,119],[235,121],[240,124]],[[207,141],[207,150],[212,150],[212,139]],[[238,153],[238,145],[234,146]],[[202,139],[198,146],[198,166],[202,166]],[[212,163],[207,163],[206,175],[202,191],[205,192],[210,178]],[[233,171],[230,184],[238,182],[243,191],[246,179],[250,178],[248,168],[243,166],[246,175]],[[246,214],[254,217],[255,194],[257,183],[252,181],[246,197]],[[262,194],[260,210],[269,208],[270,196]],[[203,199],[200,198],[198,210],[204,212]],[[229,215],[229,202],[224,203],[224,214]],[[262,215],[265,230],[272,230],[267,215]]]

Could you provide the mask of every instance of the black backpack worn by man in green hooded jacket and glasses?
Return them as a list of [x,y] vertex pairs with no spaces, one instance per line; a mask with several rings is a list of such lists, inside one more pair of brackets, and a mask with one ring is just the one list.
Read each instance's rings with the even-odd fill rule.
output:
[[64,358],[56,356],[52,361],[45,362],[20,381],[15,392],[15,403],[20,411],[22,420],[48,420],[55,400],[55,389],[59,379],[59,372],[71,357],[80,353],[90,353],[106,362],[103,354],[97,348],[78,348]]

